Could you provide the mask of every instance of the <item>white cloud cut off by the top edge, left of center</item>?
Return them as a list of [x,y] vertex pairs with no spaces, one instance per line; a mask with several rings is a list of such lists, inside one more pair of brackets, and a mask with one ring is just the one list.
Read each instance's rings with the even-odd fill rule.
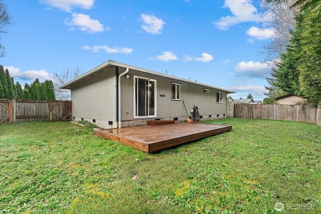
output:
[[39,0],[39,3],[50,5],[62,11],[71,12],[73,8],[89,10],[94,5],[94,0]]

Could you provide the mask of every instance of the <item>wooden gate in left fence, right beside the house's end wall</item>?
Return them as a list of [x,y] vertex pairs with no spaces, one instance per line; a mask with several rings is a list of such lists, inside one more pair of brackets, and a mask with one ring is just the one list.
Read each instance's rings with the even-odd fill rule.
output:
[[54,100],[51,101],[51,120],[63,121],[72,118],[72,101]]

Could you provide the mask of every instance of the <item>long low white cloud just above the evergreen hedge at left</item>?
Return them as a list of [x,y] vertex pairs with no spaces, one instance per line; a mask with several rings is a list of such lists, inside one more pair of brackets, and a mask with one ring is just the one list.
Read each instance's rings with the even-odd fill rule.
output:
[[5,70],[8,69],[10,76],[13,78],[19,77],[20,79],[23,80],[35,80],[38,78],[40,81],[44,80],[51,80],[52,78],[50,77],[50,74],[46,72],[46,70],[29,70],[29,71],[24,71],[21,72],[20,68],[15,68],[14,66],[8,66],[4,68]]

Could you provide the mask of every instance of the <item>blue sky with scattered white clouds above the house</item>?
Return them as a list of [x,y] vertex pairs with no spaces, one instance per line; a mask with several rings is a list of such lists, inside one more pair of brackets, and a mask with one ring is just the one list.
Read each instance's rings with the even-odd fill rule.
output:
[[232,98],[265,97],[259,1],[3,0],[12,23],[0,64],[21,85],[113,60],[226,88]]

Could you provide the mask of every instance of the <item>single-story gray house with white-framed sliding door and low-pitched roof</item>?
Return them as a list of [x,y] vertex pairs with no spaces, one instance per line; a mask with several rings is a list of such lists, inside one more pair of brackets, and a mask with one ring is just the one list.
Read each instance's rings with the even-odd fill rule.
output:
[[[227,117],[227,89],[107,61],[60,87],[72,94],[74,121],[99,127],[145,125],[149,120],[187,120],[198,107],[200,120]],[[186,109],[185,109],[186,107]]]

